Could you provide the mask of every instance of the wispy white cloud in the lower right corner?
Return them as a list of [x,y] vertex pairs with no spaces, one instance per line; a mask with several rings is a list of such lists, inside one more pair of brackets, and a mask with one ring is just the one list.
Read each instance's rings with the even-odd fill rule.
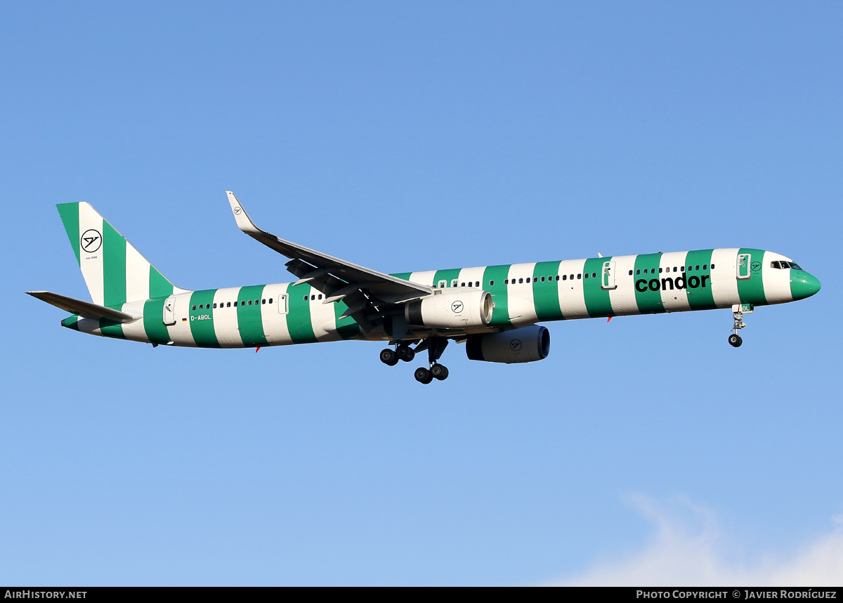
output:
[[584,573],[553,580],[558,585],[605,586],[840,586],[843,584],[843,515],[834,527],[785,554],[738,559],[711,511],[679,498],[668,509],[636,496],[631,503],[655,525],[642,549],[593,563]]

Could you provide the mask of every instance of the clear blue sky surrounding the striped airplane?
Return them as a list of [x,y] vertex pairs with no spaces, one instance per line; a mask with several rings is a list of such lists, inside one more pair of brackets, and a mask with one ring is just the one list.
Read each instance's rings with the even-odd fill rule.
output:
[[[843,564],[838,3],[0,5],[0,580],[668,584]],[[447,382],[377,343],[191,350],[62,329],[56,213],[177,285],[749,246],[817,296],[551,323]],[[695,568],[711,568],[694,573]],[[816,568],[827,573],[811,574]],[[700,570],[701,571],[701,570]]]

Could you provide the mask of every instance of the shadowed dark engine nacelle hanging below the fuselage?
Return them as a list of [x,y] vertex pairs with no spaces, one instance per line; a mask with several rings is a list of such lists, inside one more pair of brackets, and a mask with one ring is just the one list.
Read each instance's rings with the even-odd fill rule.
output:
[[544,326],[522,326],[502,333],[472,335],[465,342],[470,360],[522,363],[544,360],[550,353],[550,331]]

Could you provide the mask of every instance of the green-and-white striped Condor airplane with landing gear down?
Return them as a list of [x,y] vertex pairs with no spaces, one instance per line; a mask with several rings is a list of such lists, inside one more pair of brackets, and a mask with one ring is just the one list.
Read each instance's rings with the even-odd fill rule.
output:
[[88,202],[60,203],[62,223],[91,302],[29,291],[71,312],[62,326],[92,335],[186,347],[389,342],[395,366],[427,351],[422,384],[448,378],[449,341],[471,360],[547,358],[550,331],[536,323],[730,308],[733,347],[744,315],[817,293],[819,280],[789,257],[732,248],[385,274],[259,229],[227,191],[240,230],[289,258],[294,283],[191,290],[176,287]]

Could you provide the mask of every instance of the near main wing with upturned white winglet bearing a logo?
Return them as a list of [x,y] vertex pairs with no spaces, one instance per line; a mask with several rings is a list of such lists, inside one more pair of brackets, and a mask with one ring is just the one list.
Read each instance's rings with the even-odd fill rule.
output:
[[325,294],[324,304],[342,299],[348,305],[344,316],[352,316],[364,331],[371,331],[384,320],[384,306],[402,304],[433,293],[433,288],[427,285],[410,283],[279,239],[275,234],[255,226],[234,193],[226,193],[239,229],[290,258],[286,266],[289,272],[298,277],[294,284],[309,283]]

